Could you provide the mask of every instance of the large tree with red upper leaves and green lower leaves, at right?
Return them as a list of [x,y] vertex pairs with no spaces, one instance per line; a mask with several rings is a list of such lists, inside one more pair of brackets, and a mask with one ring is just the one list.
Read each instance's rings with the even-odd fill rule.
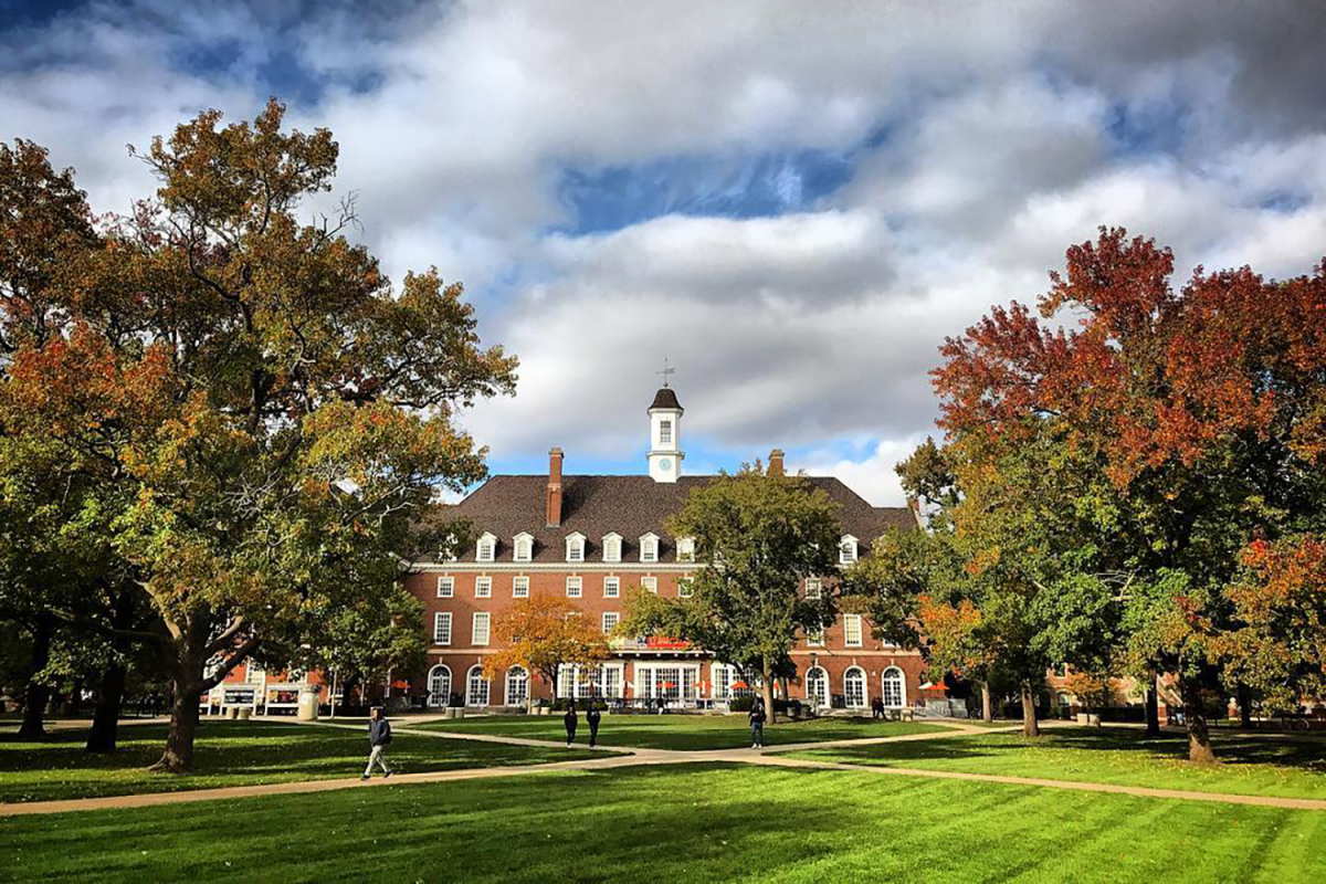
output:
[[1017,445],[1049,427],[1099,464],[1118,505],[1093,538],[1127,541],[1128,655],[1177,675],[1189,758],[1213,761],[1201,694],[1238,551],[1322,520],[1326,265],[1282,284],[1197,268],[1181,292],[1172,270],[1168,249],[1102,228],[1041,298],[1075,330],[994,307],[934,376],[948,433]]

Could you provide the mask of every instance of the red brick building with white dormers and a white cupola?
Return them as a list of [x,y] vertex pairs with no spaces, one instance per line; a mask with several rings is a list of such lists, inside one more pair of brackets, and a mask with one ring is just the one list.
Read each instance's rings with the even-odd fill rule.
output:
[[[430,667],[412,691],[428,705],[446,705],[459,694],[468,706],[518,706],[526,696],[552,697],[556,691],[562,697],[593,692],[703,706],[756,688],[752,676],[703,649],[658,639],[614,639],[599,671],[565,671],[557,685],[532,683],[520,669],[491,683],[483,676],[484,656],[496,651],[495,618],[516,599],[564,595],[607,634],[623,616],[629,587],[664,596],[686,592],[686,578],[697,567],[693,550],[687,538],[671,537],[664,522],[711,477],[682,474],[683,408],[666,383],[647,414],[644,476],[564,476],[562,452],[553,448],[546,476],[496,476],[456,505],[455,514],[473,525],[475,543],[453,561],[419,563],[407,578],[427,610]],[[782,452],[770,453],[769,468],[782,469]],[[842,566],[869,554],[884,530],[916,527],[906,508],[870,506],[837,478],[809,481],[839,505]],[[815,592],[831,578],[808,580],[804,590]],[[874,639],[870,623],[858,615],[841,615],[822,636],[801,636],[793,660],[790,696],[817,706],[842,697],[849,709],[869,709],[882,697],[899,709],[922,696],[920,656]]]

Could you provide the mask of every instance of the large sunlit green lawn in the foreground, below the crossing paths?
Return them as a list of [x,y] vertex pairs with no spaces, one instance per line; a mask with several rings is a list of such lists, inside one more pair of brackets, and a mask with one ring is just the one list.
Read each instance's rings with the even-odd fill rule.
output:
[[0,819],[7,880],[1326,880],[1326,814],[686,765]]

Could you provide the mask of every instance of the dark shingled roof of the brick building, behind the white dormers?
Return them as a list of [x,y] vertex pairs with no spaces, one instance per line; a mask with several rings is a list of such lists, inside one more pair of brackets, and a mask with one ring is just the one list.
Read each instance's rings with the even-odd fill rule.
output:
[[[497,561],[511,562],[512,538],[521,531],[534,537],[534,562],[564,562],[566,535],[579,531],[586,539],[585,561],[601,562],[603,535],[622,535],[622,561],[639,561],[639,538],[654,533],[659,561],[675,562],[676,549],[663,522],[682,509],[692,489],[712,476],[683,476],[674,482],[656,482],[648,476],[564,476],[562,524],[545,527],[546,476],[495,476],[465,500],[448,508],[448,517],[460,516],[473,525],[475,537],[491,531],[497,537]],[[888,527],[914,529],[916,522],[904,506],[871,506],[855,492],[831,477],[808,477],[838,502],[838,520],[847,534],[861,541],[861,553]],[[475,545],[460,551],[463,562],[475,559]]]

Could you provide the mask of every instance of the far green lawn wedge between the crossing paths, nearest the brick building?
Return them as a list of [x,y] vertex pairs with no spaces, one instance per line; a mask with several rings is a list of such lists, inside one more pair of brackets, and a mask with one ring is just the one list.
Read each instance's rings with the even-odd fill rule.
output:
[[[422,725],[428,730],[455,733],[503,734],[530,740],[566,740],[561,713],[552,716],[484,716],[438,721]],[[903,734],[944,730],[939,725],[908,721],[871,721],[870,718],[815,718],[765,725],[764,745],[782,746],[794,742],[826,740],[861,740],[863,737],[900,737]],[[589,726],[581,716],[575,741],[589,741]],[[740,749],[751,745],[751,728],[744,714],[732,716],[603,716],[598,741],[605,746],[639,749]]]

